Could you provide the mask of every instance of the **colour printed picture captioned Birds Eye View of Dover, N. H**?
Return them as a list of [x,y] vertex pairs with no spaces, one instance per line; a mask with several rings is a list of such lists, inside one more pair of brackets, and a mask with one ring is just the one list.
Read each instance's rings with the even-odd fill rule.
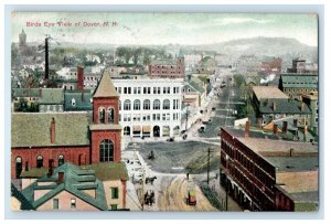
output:
[[12,211],[316,212],[316,13],[11,13]]

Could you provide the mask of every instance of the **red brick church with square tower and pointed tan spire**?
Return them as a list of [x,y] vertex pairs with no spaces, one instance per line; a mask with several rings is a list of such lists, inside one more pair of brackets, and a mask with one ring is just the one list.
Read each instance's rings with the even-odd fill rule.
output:
[[106,72],[93,95],[92,113],[13,113],[11,177],[47,168],[50,160],[55,167],[120,161],[118,99]]

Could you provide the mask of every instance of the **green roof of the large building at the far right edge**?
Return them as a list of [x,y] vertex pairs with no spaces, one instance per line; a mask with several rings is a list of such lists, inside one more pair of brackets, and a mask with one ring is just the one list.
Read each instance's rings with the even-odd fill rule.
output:
[[279,82],[284,88],[318,88],[316,74],[281,74]]

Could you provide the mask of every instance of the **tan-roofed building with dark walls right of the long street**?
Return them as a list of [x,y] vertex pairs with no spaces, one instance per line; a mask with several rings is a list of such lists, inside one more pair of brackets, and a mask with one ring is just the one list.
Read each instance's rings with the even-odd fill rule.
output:
[[[311,117],[311,109],[303,102],[290,99],[275,86],[254,86],[252,102],[259,126],[287,116],[298,116],[308,121]],[[308,122],[308,126],[311,124]]]

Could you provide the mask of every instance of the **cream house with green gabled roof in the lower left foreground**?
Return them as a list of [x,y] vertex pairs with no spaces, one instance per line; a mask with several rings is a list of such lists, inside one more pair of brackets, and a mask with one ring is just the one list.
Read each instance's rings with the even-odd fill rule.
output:
[[[52,166],[51,161],[51,166]],[[100,167],[100,166],[99,166]],[[19,206],[15,210],[35,211],[108,211],[126,209],[126,180],[124,163],[78,168],[70,162],[31,180],[31,171],[23,181],[32,182],[21,192],[13,190]],[[116,174],[115,174],[116,172]],[[103,173],[103,174],[100,174]],[[116,178],[114,178],[116,177]],[[35,178],[35,177],[33,177]]]

